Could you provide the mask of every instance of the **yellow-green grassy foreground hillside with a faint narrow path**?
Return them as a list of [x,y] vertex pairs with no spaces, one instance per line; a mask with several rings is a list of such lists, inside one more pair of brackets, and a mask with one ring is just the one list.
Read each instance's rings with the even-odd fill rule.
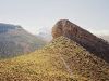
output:
[[21,80],[109,81],[109,65],[60,37],[32,54],[0,62],[0,81]]

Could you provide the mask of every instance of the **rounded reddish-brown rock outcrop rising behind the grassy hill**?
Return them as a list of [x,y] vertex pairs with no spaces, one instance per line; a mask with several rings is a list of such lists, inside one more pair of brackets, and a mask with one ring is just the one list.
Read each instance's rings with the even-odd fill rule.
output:
[[68,19],[59,21],[52,28],[53,39],[64,36],[80,43],[87,51],[109,62],[109,44]]

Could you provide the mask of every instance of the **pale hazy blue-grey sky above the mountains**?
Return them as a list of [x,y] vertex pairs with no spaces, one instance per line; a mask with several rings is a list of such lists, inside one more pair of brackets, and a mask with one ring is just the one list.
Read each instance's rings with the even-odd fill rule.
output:
[[0,0],[0,22],[21,25],[33,33],[50,30],[61,18],[109,35],[109,0]]

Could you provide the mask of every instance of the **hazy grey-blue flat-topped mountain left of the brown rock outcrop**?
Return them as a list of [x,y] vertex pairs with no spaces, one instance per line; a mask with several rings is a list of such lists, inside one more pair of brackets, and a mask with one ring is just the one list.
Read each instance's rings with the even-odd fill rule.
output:
[[0,58],[33,52],[45,43],[21,26],[0,23]]

